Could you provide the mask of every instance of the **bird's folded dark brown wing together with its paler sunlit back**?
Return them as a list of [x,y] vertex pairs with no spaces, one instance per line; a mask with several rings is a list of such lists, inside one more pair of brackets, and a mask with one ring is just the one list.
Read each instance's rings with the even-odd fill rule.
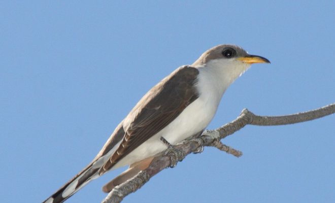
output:
[[123,121],[123,140],[99,174],[110,170],[119,160],[172,122],[198,98],[194,87],[198,70],[182,66],[154,86]]

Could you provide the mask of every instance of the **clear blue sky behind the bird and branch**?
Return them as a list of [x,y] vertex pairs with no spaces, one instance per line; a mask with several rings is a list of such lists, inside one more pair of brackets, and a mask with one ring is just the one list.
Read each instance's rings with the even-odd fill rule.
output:
[[[218,44],[271,60],[226,91],[209,129],[335,101],[334,1],[2,1],[2,202],[41,202],[88,164],[141,96]],[[335,202],[335,116],[247,126],[124,202]],[[100,202],[92,181],[66,202]]]

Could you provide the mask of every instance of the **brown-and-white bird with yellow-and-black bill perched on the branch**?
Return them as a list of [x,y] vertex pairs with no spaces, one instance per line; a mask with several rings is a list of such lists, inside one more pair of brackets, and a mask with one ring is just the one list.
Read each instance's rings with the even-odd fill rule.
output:
[[63,202],[91,180],[129,165],[103,187],[110,192],[147,168],[157,153],[169,148],[166,142],[173,146],[201,134],[228,86],[253,63],[270,61],[236,45],[218,45],[191,65],[178,67],[139,100],[95,158],[44,203]]

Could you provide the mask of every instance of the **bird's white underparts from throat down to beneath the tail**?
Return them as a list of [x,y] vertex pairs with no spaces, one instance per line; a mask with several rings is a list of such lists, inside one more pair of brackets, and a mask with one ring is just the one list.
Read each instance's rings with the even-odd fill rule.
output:
[[121,159],[113,169],[165,150],[167,147],[160,137],[171,144],[177,144],[205,129],[213,119],[224,91],[250,67],[250,64],[236,59],[213,59],[207,64],[194,67],[199,70],[196,83],[199,97],[168,126]]

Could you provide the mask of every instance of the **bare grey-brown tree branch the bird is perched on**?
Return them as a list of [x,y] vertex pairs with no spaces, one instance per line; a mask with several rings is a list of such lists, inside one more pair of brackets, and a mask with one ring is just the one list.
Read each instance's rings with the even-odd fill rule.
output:
[[[177,159],[180,161],[191,152],[197,152],[199,151],[199,148],[204,146],[216,147],[221,151],[225,151],[239,157],[242,155],[242,152],[222,144],[220,140],[230,134],[233,134],[248,124],[268,126],[286,125],[314,120],[333,113],[335,113],[335,103],[316,110],[286,116],[258,116],[249,110],[244,109],[240,116],[230,123],[227,123],[215,130],[206,130],[200,138],[185,141],[174,146],[176,150],[181,150],[183,152],[182,157],[177,157]],[[171,165],[171,160],[171,155],[165,155],[163,152],[158,154],[146,170],[141,171],[136,176],[116,186],[102,201],[102,203],[121,202],[126,195],[135,192],[148,182],[151,177],[162,171],[164,168],[169,167]]]

